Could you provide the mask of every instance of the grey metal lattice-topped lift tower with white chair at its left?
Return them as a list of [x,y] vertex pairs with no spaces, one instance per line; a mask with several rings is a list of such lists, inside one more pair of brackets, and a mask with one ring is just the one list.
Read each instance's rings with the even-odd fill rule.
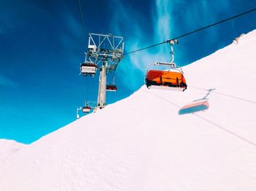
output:
[[99,90],[97,109],[106,104],[107,74],[115,72],[118,63],[124,58],[123,37],[112,34],[89,34],[86,61],[81,64],[81,73],[94,76],[99,69]]

